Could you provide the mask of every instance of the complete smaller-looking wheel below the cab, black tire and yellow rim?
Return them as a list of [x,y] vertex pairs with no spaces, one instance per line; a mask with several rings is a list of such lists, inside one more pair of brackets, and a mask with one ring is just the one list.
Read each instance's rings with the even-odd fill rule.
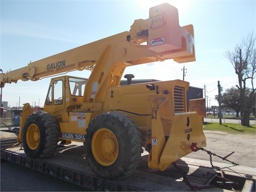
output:
[[51,157],[58,147],[60,129],[58,122],[44,111],[31,114],[22,131],[23,148],[28,157]]

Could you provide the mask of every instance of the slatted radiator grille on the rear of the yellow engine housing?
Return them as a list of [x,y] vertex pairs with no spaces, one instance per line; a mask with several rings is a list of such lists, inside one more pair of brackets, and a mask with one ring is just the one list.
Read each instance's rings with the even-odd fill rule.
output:
[[174,111],[175,113],[186,112],[184,87],[174,86]]

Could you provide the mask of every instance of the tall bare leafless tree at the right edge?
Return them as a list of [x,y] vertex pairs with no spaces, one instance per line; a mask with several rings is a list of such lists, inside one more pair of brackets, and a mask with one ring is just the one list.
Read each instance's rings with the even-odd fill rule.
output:
[[[242,43],[235,47],[234,51],[227,51],[226,57],[232,63],[238,77],[238,88],[240,92],[241,124],[250,126],[250,114],[253,110],[254,83],[256,76],[256,36],[251,33],[242,39]],[[249,97],[246,97],[246,82],[250,83]]]

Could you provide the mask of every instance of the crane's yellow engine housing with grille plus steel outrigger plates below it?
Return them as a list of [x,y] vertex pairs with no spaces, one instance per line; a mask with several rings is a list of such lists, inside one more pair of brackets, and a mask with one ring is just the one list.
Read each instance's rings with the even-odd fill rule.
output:
[[[149,90],[147,85],[154,85],[155,89]],[[177,87],[183,91],[177,91]],[[193,152],[193,143],[198,148],[206,146],[202,116],[199,116],[202,112],[196,108],[186,112],[188,87],[188,82],[177,79],[111,87],[108,91],[105,102],[108,105],[104,110],[116,110],[133,119],[142,133],[143,146],[151,145],[148,157],[151,169],[165,170]],[[204,108],[204,100],[197,102]],[[182,108],[181,113],[175,113],[177,106],[178,111]]]

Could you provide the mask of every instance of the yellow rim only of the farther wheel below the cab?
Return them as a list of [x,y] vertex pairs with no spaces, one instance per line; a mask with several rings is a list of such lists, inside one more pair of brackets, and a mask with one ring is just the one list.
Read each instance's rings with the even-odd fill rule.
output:
[[31,150],[35,150],[40,143],[40,131],[36,124],[32,123],[28,126],[26,132],[27,145]]

